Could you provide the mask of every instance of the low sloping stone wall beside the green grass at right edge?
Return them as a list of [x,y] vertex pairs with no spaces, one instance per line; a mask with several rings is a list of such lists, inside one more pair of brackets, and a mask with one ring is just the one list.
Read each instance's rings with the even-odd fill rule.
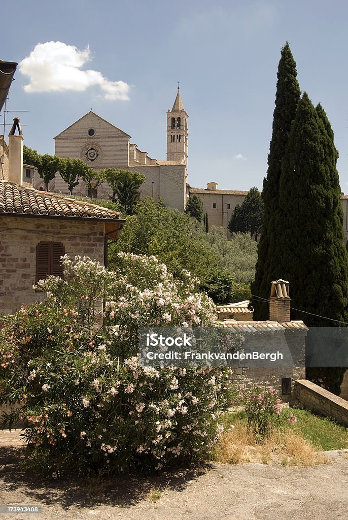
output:
[[348,401],[305,379],[296,381],[293,397],[300,405],[348,426]]

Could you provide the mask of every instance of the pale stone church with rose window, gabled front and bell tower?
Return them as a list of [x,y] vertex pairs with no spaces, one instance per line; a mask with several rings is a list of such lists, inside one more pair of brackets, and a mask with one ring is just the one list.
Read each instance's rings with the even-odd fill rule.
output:
[[[173,107],[167,112],[166,161],[152,159],[130,142],[129,134],[92,111],[55,137],[56,155],[82,159],[98,171],[115,167],[143,173],[146,181],[140,188],[142,198],[150,196],[155,201],[162,198],[165,204],[184,211],[188,194],[188,119],[178,89]],[[59,174],[49,188],[68,193],[68,186]],[[74,193],[86,194],[83,182]],[[111,189],[103,183],[96,195],[108,198]]]

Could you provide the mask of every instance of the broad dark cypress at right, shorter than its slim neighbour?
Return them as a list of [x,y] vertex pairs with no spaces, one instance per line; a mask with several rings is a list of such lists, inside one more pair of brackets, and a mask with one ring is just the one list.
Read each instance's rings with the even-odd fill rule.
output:
[[[303,94],[279,183],[276,278],[290,282],[291,318],[303,319],[309,327],[338,327],[348,321],[348,254],[337,157],[323,108],[315,109]],[[343,368],[307,368],[306,376],[339,393],[343,373]]]

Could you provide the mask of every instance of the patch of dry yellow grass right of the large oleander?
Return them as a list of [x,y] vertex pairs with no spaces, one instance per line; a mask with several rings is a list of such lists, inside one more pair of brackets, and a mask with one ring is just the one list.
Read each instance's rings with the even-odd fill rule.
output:
[[245,424],[236,424],[230,432],[224,432],[216,447],[216,460],[222,463],[282,464],[312,466],[325,464],[323,454],[316,453],[309,440],[300,434],[274,430],[261,443],[247,432]]

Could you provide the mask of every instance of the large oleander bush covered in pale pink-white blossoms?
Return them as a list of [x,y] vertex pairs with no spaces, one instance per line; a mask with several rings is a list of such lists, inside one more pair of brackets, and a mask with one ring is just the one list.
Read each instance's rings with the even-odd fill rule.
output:
[[217,325],[215,307],[154,257],[119,253],[107,271],[62,258],[42,302],[1,318],[3,426],[24,422],[31,470],[153,471],[204,460],[231,404],[229,370],[141,367],[139,327]]

